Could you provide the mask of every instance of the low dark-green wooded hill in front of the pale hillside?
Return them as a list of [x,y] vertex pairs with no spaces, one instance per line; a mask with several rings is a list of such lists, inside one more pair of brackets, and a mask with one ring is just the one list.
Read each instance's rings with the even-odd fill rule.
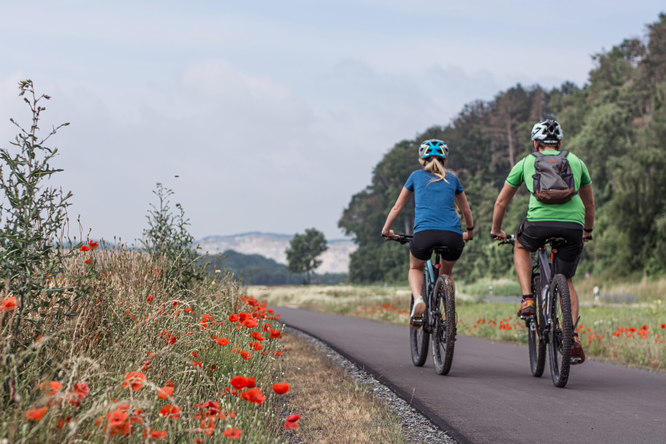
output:
[[[284,264],[278,264],[260,254],[242,254],[234,250],[226,250],[221,254],[208,255],[204,258],[204,261],[212,264],[209,270],[222,270],[224,268],[248,285],[302,284],[306,278],[304,274],[291,274]],[[346,278],[346,274],[314,273],[312,274],[312,283],[339,284],[345,282]]]

